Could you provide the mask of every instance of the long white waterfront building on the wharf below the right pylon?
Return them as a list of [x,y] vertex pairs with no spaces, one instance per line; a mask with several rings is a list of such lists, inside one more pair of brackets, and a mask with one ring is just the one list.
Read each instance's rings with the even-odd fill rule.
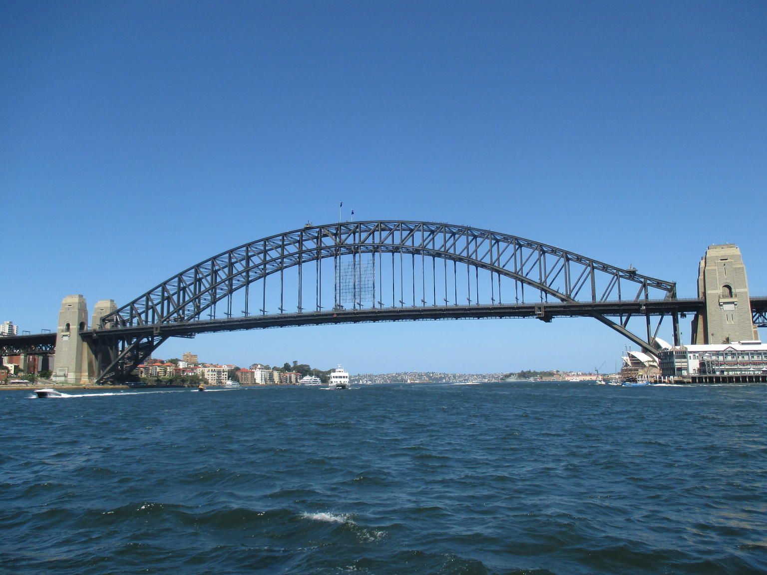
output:
[[767,383],[767,344],[760,340],[670,347],[658,356],[667,381]]

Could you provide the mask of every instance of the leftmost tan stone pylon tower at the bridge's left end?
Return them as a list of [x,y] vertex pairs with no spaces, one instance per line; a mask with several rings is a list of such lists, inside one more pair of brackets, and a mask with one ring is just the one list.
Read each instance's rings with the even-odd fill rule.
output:
[[80,337],[87,327],[88,309],[80,294],[67,295],[58,313],[56,357],[53,380],[60,383],[90,383],[88,380],[88,357],[91,352]]

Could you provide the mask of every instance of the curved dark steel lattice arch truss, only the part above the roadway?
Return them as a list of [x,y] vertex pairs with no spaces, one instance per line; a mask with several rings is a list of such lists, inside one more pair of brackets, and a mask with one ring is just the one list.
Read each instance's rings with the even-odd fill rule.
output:
[[[275,272],[321,258],[360,253],[423,254],[459,261],[558,298],[623,301],[621,284],[634,284],[636,301],[650,289],[674,297],[676,284],[637,274],[512,235],[430,222],[347,222],[301,228],[262,238],[201,261],[104,317],[102,327],[157,325],[199,320],[216,302]],[[607,276],[597,294],[595,274]],[[564,281],[565,290],[552,288]]]

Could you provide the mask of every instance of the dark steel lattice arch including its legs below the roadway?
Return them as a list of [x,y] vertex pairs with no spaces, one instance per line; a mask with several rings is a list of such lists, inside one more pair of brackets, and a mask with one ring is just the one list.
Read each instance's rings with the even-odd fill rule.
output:
[[[272,235],[201,261],[104,317],[100,329],[84,333],[84,337],[91,341],[101,357],[108,358],[101,363],[104,372],[100,380],[118,373],[126,376],[170,335],[183,337],[203,330],[232,329],[229,327],[233,325],[231,322],[211,329],[212,324],[202,320],[202,314],[255,281],[287,268],[299,266],[300,269],[301,265],[324,258],[384,253],[424,255],[463,263],[491,271],[499,277],[512,278],[564,304],[582,303],[583,300],[579,301],[578,297],[583,292],[588,295],[585,301],[594,304],[611,300],[647,301],[650,290],[660,291],[665,300],[673,300],[676,295],[676,284],[673,282],[650,278],[637,274],[633,269],[617,268],[513,235],[433,222],[344,222],[307,226]],[[597,282],[597,275],[600,282]],[[559,283],[564,284],[564,289],[554,287]],[[597,283],[604,286],[601,292],[597,292]],[[632,284],[636,292],[631,292],[633,297],[624,298],[623,288]],[[628,332],[625,324],[607,320],[597,307],[595,305],[594,310],[588,312],[591,317],[651,350],[648,343]],[[388,313],[391,310],[379,308],[370,311],[373,314],[370,319],[365,319],[363,314],[349,320],[407,319],[399,312],[393,315]],[[280,308],[280,311],[283,309]],[[479,310],[472,309],[465,317],[519,315],[516,311],[510,311],[509,307],[491,311],[489,315],[479,316],[476,313]],[[427,316],[432,319],[464,317],[453,311],[436,316],[433,312],[422,314],[415,311],[410,319]],[[535,317],[548,320],[545,312],[543,316]],[[649,316],[647,320],[649,322]],[[268,327],[268,323],[259,322],[252,327]],[[324,322],[307,320],[304,323]],[[250,325],[250,322],[245,324]],[[106,347],[110,349],[106,350]]]

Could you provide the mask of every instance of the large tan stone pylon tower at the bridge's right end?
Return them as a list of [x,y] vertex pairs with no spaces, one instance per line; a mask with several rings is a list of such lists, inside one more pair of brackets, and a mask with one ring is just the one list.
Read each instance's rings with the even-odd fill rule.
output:
[[709,245],[700,261],[698,297],[706,302],[706,311],[693,320],[695,344],[719,344],[758,340],[749,298],[746,266],[738,246]]

